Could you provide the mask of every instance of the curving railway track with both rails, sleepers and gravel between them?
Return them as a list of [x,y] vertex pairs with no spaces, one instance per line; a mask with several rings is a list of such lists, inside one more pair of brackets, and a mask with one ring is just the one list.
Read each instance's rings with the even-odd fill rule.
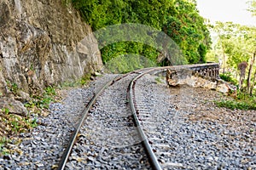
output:
[[[193,67],[173,66],[172,69]],[[155,131],[153,116],[148,115],[147,107],[140,101],[143,95],[136,89],[137,81],[143,76],[159,74],[168,68],[133,71],[99,89],[84,108],[58,169],[183,167],[161,159],[170,156],[170,146]]]

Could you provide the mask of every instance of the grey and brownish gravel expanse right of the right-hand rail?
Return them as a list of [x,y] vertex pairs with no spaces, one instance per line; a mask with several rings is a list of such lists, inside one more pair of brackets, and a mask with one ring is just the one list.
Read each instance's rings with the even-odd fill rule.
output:
[[[227,99],[224,94],[186,86],[166,88],[158,79],[147,76],[137,81],[137,102],[150,113],[141,119],[146,120],[143,127],[162,165],[168,169],[256,168],[255,111],[219,108],[213,100]],[[159,142],[167,148],[164,154],[158,150]]]

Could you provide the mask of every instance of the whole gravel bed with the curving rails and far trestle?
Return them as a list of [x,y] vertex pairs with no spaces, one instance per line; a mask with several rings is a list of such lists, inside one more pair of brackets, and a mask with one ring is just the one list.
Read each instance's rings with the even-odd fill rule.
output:
[[[183,68],[218,76],[214,64],[171,70]],[[166,88],[154,76],[166,69],[105,75],[73,89],[50,106],[44,125],[20,134],[20,154],[0,157],[0,169],[57,168],[71,133],[59,169],[254,169],[255,111],[219,108],[212,101],[224,96],[205,88]]]

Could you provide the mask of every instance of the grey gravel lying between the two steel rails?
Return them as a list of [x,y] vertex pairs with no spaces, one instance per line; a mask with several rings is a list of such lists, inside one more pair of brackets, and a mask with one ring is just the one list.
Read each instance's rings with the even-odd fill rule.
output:
[[124,89],[135,76],[125,77],[106,89],[84,121],[82,135],[74,144],[73,152],[81,157],[88,156],[85,167],[150,169],[137,129],[127,123],[131,111]]

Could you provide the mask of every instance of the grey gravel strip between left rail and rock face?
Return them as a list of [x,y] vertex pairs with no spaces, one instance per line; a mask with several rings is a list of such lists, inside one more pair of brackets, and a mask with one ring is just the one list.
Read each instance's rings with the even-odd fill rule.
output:
[[[97,77],[85,88],[61,90],[61,95],[66,96],[59,103],[49,105],[48,116],[35,116],[38,127],[31,133],[20,133],[21,143],[19,150],[14,154],[0,156],[0,169],[52,169],[61,159],[61,154],[73,132],[79,116],[93,94],[117,75]],[[82,107],[81,107],[82,105]]]

